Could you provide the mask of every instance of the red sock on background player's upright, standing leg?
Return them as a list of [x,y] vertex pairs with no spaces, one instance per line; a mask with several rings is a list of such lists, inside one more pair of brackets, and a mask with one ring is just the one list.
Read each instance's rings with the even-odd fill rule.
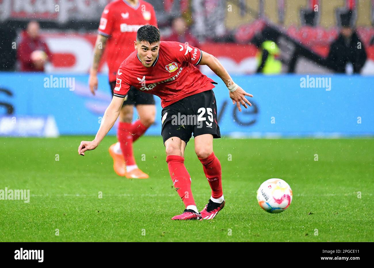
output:
[[136,165],[134,154],[132,152],[131,123],[119,122],[117,138],[123,157],[125,158],[126,165]]

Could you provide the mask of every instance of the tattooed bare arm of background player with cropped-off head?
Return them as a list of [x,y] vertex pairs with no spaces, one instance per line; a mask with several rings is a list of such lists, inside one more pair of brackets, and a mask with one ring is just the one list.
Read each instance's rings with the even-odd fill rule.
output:
[[105,50],[105,45],[107,43],[108,37],[98,34],[96,38],[95,48],[93,50],[93,60],[92,60],[92,66],[90,69],[90,76],[88,78],[88,85],[90,88],[90,91],[93,95],[95,95],[95,90],[97,90],[97,72],[99,70],[99,64],[102,57],[102,54]]

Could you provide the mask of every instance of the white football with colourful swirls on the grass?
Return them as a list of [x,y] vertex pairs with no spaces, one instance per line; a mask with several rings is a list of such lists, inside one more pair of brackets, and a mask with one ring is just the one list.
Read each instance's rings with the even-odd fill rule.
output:
[[258,188],[257,201],[269,213],[285,211],[292,201],[291,187],[281,179],[269,179]]

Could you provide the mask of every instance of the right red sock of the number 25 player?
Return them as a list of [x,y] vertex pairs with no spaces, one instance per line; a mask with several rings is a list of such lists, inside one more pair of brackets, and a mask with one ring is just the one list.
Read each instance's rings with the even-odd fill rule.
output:
[[199,160],[203,164],[205,176],[208,179],[209,185],[212,189],[212,197],[216,199],[220,198],[223,195],[222,171],[220,161],[214,155],[214,152],[211,153],[208,158],[199,158]]

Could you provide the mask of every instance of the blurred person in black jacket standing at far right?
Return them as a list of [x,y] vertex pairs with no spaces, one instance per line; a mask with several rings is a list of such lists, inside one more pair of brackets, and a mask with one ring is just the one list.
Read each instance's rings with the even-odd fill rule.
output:
[[367,59],[364,43],[353,29],[351,17],[351,11],[340,15],[340,34],[331,43],[326,59],[326,65],[337,73],[358,74]]

